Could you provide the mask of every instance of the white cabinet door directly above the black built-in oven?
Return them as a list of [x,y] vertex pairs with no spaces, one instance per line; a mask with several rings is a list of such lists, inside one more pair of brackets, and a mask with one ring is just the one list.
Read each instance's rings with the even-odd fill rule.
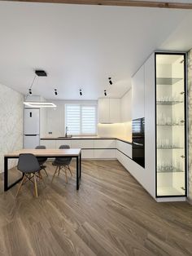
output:
[[144,65],[132,77],[132,119],[145,117]]

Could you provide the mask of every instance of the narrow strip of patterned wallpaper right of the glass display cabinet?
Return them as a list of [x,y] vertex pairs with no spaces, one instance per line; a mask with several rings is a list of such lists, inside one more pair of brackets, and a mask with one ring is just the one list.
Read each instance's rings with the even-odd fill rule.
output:
[[188,53],[189,200],[192,202],[192,49]]

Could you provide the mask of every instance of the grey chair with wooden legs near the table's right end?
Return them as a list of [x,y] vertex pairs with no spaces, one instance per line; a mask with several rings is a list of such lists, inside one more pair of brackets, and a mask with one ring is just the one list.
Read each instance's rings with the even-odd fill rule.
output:
[[[70,148],[68,145],[61,145],[59,149],[68,149]],[[68,174],[67,170],[70,171],[70,174],[72,175],[72,171],[69,167],[70,163],[72,161],[72,157],[55,157],[55,161],[52,163],[53,166],[56,166],[55,173],[53,175],[53,178],[51,182],[53,182],[55,178],[55,174],[58,173],[58,176],[60,174],[60,170],[63,170],[65,172],[65,181],[68,183]]]

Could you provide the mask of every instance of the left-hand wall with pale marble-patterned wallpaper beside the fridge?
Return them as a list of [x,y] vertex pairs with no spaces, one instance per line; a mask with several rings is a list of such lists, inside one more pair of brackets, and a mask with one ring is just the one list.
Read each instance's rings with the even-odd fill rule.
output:
[[[4,154],[23,148],[23,95],[0,85],[0,172],[4,170]],[[9,161],[9,167],[15,161]]]

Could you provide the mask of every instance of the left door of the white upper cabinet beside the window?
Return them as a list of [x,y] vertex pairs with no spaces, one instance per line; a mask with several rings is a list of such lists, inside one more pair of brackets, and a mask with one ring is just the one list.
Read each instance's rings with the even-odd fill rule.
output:
[[109,99],[98,99],[98,122],[110,123]]

